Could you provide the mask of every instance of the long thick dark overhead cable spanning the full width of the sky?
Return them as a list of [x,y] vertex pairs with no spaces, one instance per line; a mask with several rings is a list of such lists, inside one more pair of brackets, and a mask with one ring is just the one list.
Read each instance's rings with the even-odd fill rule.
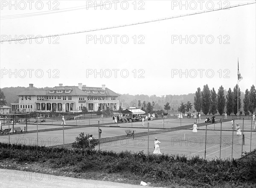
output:
[[106,30],[106,29],[114,29],[114,28],[126,27],[126,26],[135,26],[135,25],[139,25],[139,24],[143,24],[143,23],[151,23],[151,22],[157,22],[157,21],[162,21],[162,20],[174,19],[174,18],[178,18],[178,17],[192,16],[192,15],[195,15],[195,14],[203,14],[203,13],[207,13],[207,12],[214,12],[214,11],[219,11],[219,10],[224,10],[224,9],[232,9],[232,8],[235,8],[235,7],[251,5],[251,4],[255,4],[255,3],[256,3],[256,1],[251,2],[251,3],[242,3],[242,4],[238,4],[238,5],[228,6],[228,7],[225,7],[225,8],[218,8],[218,9],[212,9],[212,10],[201,11],[201,12],[194,12],[194,13],[189,13],[189,14],[181,14],[181,15],[177,15],[177,16],[164,17],[164,18],[159,18],[159,19],[155,19],[155,20],[148,20],[148,21],[138,22],[138,23],[130,23],[130,24],[125,24],[125,25],[111,26],[111,27],[90,29],[90,30],[88,29],[88,30],[84,30],[84,31],[69,32],[69,33],[62,33],[62,34],[56,34],[56,35],[46,35],[46,36],[41,36],[41,37],[12,39],[12,40],[1,40],[0,42],[3,43],[3,42],[10,42],[10,41],[30,40],[30,39],[35,39],[35,38],[49,38],[49,37],[56,37],[56,36],[63,36],[63,35],[73,35],[73,34],[79,34],[79,33],[85,33],[85,32],[94,32],[94,31],[100,31],[100,30]]

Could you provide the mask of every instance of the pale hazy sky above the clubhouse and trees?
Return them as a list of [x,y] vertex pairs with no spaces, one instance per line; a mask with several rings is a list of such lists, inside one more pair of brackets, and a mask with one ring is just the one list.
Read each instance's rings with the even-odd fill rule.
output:
[[[103,6],[93,7],[101,2]],[[12,1],[12,6],[1,1],[0,35],[1,40],[10,40],[79,32],[247,2],[253,1],[47,0]],[[23,17],[28,13],[34,16]],[[0,87],[105,84],[116,93],[157,96],[195,93],[205,84],[228,90],[237,84],[239,58],[243,77],[239,87],[244,92],[256,85],[255,27],[256,4],[252,4],[114,29],[2,42]]]

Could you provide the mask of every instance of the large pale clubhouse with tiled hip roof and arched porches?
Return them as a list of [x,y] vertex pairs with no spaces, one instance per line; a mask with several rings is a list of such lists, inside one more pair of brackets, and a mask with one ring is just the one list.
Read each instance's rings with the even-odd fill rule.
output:
[[119,95],[102,85],[102,87],[63,86],[59,84],[47,90],[36,89],[29,84],[29,89],[18,94],[19,104],[12,104],[15,112],[81,112],[87,107],[89,112],[97,110],[118,110]]

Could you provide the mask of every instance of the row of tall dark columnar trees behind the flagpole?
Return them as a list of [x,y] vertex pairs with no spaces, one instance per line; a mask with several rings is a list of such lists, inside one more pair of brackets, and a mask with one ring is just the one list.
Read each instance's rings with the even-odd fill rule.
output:
[[[238,108],[237,108],[238,106]],[[244,112],[244,115],[247,116],[250,113],[253,114],[256,109],[256,89],[252,85],[250,91],[247,89],[245,91],[244,100],[243,100],[243,112],[241,110],[241,91],[238,87],[238,84],[233,88],[227,91],[227,95],[224,95],[224,88],[219,87],[218,93],[215,89],[209,90],[208,85],[204,85],[203,90],[201,91],[200,87],[197,88],[194,97],[194,107],[197,112],[203,112],[204,115],[216,114],[220,115],[227,112],[227,115],[239,113],[240,115]]]

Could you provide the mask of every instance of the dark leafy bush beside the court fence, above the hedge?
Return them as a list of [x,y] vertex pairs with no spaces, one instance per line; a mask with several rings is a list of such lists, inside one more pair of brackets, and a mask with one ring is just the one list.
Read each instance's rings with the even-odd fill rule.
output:
[[84,133],[80,133],[78,137],[76,137],[76,141],[73,142],[72,148],[78,148],[78,149],[93,149],[96,145],[99,144],[98,139],[92,139],[89,141],[90,135],[84,135]]

